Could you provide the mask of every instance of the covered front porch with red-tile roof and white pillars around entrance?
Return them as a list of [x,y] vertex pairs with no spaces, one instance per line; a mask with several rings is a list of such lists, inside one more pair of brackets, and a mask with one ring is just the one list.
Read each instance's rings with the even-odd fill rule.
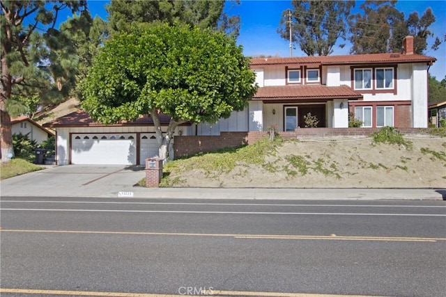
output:
[[267,86],[249,102],[249,131],[295,131],[308,126],[311,113],[316,127],[348,127],[348,102],[362,95],[348,86]]

